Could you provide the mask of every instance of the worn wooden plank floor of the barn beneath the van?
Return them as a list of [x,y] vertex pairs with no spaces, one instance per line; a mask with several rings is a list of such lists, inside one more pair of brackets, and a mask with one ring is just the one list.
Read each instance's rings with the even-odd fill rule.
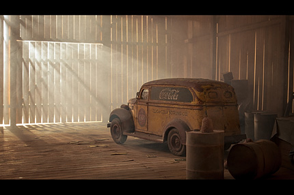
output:
[[[139,138],[117,145],[101,123],[0,131],[0,179],[186,179],[185,160]],[[234,179],[226,169],[224,179]],[[267,179],[294,179],[294,172],[281,167]]]

